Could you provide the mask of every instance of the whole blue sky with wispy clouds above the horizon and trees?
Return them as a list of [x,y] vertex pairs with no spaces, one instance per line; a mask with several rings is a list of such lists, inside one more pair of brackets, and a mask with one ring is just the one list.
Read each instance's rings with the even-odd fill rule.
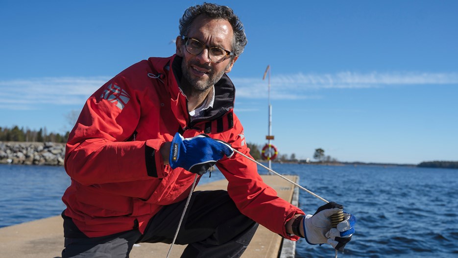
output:
[[[248,142],[265,144],[270,65],[280,153],[458,160],[458,1],[216,2],[248,37],[228,74]],[[0,0],[0,126],[70,129],[66,116],[106,80],[172,55],[196,3]]]

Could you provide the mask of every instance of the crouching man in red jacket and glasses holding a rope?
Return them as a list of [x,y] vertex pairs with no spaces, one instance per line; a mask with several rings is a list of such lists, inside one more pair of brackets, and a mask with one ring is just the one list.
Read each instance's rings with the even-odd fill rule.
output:
[[188,244],[182,257],[240,257],[258,223],[311,244],[342,249],[349,241],[350,215],[341,232],[330,231],[328,217],[341,206],[304,216],[234,154],[249,149],[226,73],[246,42],[229,7],[190,7],[175,55],[134,64],[88,99],[67,143],[63,258],[121,258],[135,243],[170,243],[195,177],[215,163],[228,190],[192,194],[176,239]]

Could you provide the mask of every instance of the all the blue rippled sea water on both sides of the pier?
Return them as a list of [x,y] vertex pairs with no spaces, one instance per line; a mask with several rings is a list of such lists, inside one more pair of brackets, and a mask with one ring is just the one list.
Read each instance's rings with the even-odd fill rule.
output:
[[[298,175],[302,186],[357,217],[356,233],[339,258],[458,257],[457,169],[278,163],[272,169]],[[208,176],[200,183],[224,178],[218,171]],[[0,227],[60,214],[69,184],[62,167],[0,165]],[[306,213],[323,204],[300,191]],[[299,240],[296,257],[332,258],[334,250]]]

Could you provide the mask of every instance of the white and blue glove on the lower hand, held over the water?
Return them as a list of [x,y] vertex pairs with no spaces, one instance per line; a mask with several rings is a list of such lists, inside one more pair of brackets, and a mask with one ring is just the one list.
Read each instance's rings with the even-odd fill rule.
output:
[[320,206],[315,214],[305,215],[302,225],[307,243],[311,245],[327,243],[343,252],[355,232],[356,217],[344,212],[344,220],[337,224],[337,228],[332,228],[329,217],[342,209],[342,205],[330,202]]

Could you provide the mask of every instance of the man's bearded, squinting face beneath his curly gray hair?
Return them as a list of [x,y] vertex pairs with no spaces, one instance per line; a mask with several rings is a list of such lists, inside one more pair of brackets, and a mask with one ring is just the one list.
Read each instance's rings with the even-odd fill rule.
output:
[[[186,35],[196,39],[209,47],[218,47],[232,51],[232,26],[226,20],[215,20],[203,15],[198,16]],[[223,76],[229,73],[237,60],[226,58],[220,63],[210,61],[208,49],[200,54],[192,54],[186,50],[185,42],[180,37],[176,39],[176,54],[183,57],[181,69],[183,77],[193,87],[194,91],[204,92]]]

